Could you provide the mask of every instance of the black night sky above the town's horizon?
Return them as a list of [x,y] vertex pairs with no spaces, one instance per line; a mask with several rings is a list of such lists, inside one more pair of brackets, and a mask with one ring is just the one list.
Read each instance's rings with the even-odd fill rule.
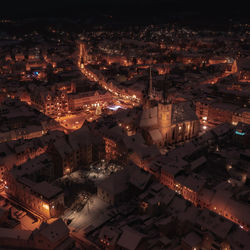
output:
[[[247,0],[2,0],[0,15],[27,17],[96,17],[112,15],[124,19],[196,16],[214,22],[223,18],[249,18]],[[4,2],[4,4],[3,4]]]

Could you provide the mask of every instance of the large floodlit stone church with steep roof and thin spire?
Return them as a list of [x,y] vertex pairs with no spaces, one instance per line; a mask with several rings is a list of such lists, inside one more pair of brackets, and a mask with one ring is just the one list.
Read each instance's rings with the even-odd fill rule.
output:
[[149,144],[159,147],[184,142],[198,135],[199,119],[189,102],[172,103],[165,89],[160,101],[152,95],[152,75],[143,104],[140,128]]

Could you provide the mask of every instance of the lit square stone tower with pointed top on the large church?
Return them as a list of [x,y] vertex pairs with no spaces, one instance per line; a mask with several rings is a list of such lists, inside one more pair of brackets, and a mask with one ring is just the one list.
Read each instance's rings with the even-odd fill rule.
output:
[[159,130],[165,140],[172,124],[172,103],[166,98],[165,85],[163,88],[163,98],[158,103],[157,116]]

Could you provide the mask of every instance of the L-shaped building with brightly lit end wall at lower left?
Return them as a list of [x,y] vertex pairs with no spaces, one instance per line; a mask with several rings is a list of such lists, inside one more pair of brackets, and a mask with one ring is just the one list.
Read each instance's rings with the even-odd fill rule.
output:
[[47,181],[39,182],[41,177],[54,178],[53,164],[46,154],[6,172],[5,192],[45,218],[56,217],[64,209],[63,191]]

